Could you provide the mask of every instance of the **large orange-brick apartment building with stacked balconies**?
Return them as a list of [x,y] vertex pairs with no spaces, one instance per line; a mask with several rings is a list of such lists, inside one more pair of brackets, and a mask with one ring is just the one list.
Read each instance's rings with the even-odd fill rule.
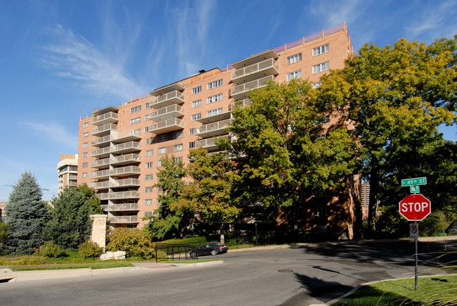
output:
[[165,155],[188,162],[192,148],[216,152],[235,101],[250,103],[268,80],[309,79],[315,86],[353,53],[347,27],[303,37],[249,56],[225,69],[167,84],[120,106],[96,108],[79,120],[77,184],[96,190],[113,227],[142,227],[160,203],[153,188]]

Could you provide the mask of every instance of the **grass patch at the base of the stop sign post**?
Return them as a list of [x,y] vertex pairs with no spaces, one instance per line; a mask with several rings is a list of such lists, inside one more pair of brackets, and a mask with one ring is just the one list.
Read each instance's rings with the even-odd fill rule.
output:
[[399,279],[361,287],[332,305],[457,305],[457,275]]

